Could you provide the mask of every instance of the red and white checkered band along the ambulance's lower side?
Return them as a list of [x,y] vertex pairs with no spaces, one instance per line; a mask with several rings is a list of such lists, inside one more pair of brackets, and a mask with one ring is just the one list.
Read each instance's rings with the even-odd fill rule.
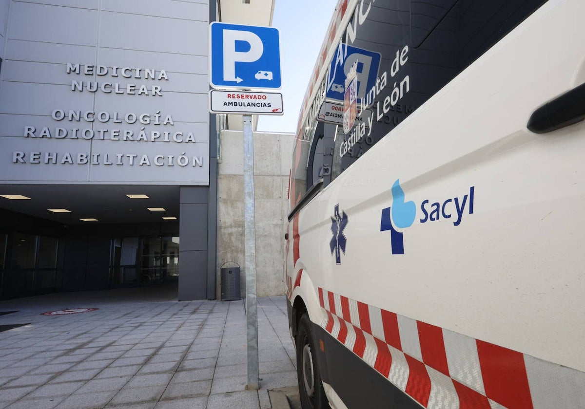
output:
[[[582,372],[318,291],[326,314],[321,327],[424,407],[550,409],[551,396],[567,395],[585,402]],[[531,394],[542,379],[552,380],[547,393]],[[580,403],[571,407],[585,407]]]

